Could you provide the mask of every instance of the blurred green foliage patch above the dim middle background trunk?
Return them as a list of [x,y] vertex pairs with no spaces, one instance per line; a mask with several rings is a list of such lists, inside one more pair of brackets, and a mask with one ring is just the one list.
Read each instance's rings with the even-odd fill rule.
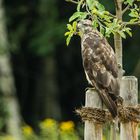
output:
[[[45,56],[52,53],[62,40],[64,23],[58,22],[57,1],[41,0],[37,6],[37,20],[35,20],[31,32],[32,38],[29,48],[37,55]],[[53,7],[53,10],[50,10]]]

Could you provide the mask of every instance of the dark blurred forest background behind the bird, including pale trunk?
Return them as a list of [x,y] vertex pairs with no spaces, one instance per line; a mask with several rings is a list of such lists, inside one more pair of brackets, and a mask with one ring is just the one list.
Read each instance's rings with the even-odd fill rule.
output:
[[[104,2],[114,13],[113,2]],[[84,105],[85,79],[80,38],[66,47],[64,33],[76,5],[64,0],[0,1],[0,129],[13,122],[38,130],[45,118],[80,119],[74,110]],[[140,77],[140,28],[123,41],[125,75]],[[110,44],[113,46],[113,39]],[[19,111],[18,111],[19,110]],[[16,120],[14,120],[16,118]]]

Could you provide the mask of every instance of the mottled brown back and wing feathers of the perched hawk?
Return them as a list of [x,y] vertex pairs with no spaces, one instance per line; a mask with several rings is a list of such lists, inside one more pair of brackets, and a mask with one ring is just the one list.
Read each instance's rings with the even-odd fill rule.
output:
[[112,87],[111,83],[118,78],[118,67],[114,51],[107,40],[98,32],[90,32],[83,35],[81,43],[83,66],[88,82],[93,85],[94,80],[105,88]]

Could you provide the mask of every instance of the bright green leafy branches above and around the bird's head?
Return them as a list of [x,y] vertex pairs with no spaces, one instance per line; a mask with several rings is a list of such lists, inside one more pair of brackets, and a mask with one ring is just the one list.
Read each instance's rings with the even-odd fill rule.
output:
[[[137,0],[138,1],[138,0]],[[124,0],[123,3],[125,8],[123,14],[128,11],[127,16],[129,21],[122,21],[113,15],[110,11],[106,10],[98,0],[80,0],[72,1],[77,4],[77,10],[69,18],[71,24],[67,24],[68,32],[65,33],[67,36],[66,44],[68,45],[71,37],[76,34],[77,22],[83,19],[90,19],[94,29],[98,29],[105,37],[110,37],[111,34],[118,33],[122,38],[126,38],[126,34],[132,36],[130,25],[140,25],[140,8],[137,5],[137,1]],[[75,32],[74,32],[75,31]],[[79,35],[79,33],[78,33]]]

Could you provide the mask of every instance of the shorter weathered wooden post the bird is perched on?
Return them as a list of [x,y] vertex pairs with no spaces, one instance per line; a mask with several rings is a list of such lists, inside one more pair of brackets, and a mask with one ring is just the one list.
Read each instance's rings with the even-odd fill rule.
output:
[[[101,99],[94,89],[86,92],[86,107],[102,108]],[[102,140],[102,125],[85,121],[84,140]]]

